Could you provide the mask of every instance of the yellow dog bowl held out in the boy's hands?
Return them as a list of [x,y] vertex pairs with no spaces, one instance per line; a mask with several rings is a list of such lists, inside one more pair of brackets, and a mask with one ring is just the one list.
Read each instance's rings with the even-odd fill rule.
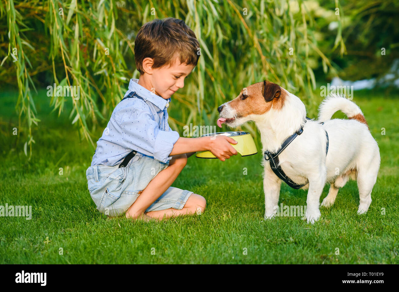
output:
[[[209,137],[209,136],[219,136],[224,135],[233,138],[237,141],[237,144],[231,144],[241,156],[249,156],[257,154],[258,151],[256,149],[255,141],[253,141],[253,137],[248,132],[219,132],[219,133],[209,133],[202,135],[202,137]],[[211,151],[202,151],[196,154],[198,158],[217,158],[215,155],[212,154]]]

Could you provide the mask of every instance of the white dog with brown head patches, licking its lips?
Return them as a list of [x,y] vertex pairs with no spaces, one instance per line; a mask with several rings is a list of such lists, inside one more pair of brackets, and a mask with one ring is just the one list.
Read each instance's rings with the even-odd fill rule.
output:
[[[349,119],[331,119],[338,110]],[[219,127],[226,123],[235,128],[254,121],[261,133],[262,152],[266,152],[262,161],[265,219],[275,216],[280,195],[281,179],[271,168],[273,161],[277,162],[276,167],[280,166],[282,177],[286,175],[296,188],[308,189],[308,223],[320,218],[324,185],[330,183],[330,191],[322,206],[329,207],[349,178],[358,182],[358,214],[367,212],[380,155],[377,142],[355,103],[344,97],[327,97],[319,108],[318,121],[306,120],[305,105],[298,97],[275,83],[263,81],[244,88],[235,99],[218,107],[218,111]],[[282,147],[288,137],[291,142],[287,145],[286,141]],[[277,160],[270,162],[270,156],[281,148]]]

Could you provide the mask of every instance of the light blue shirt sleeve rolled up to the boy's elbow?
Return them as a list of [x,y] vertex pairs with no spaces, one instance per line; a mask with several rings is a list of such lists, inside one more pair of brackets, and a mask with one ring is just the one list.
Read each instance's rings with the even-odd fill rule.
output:
[[177,131],[162,131],[152,119],[151,112],[144,107],[134,107],[120,120],[122,146],[153,156],[167,163],[172,157],[174,143],[180,135]]

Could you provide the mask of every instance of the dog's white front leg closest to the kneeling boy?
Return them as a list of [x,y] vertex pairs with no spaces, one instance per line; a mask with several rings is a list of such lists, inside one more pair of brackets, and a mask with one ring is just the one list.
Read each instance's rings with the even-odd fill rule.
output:
[[265,220],[273,218],[279,205],[281,180],[273,173],[270,166],[265,168],[263,191],[265,192]]

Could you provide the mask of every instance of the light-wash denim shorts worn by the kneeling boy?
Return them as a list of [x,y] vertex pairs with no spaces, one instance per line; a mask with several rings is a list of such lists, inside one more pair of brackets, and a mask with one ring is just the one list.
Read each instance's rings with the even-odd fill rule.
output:
[[[139,192],[169,166],[150,156],[133,157],[126,167],[94,165],[86,170],[89,193],[97,210],[108,216],[120,216],[136,201]],[[169,208],[181,210],[193,192],[169,187],[145,212]]]

